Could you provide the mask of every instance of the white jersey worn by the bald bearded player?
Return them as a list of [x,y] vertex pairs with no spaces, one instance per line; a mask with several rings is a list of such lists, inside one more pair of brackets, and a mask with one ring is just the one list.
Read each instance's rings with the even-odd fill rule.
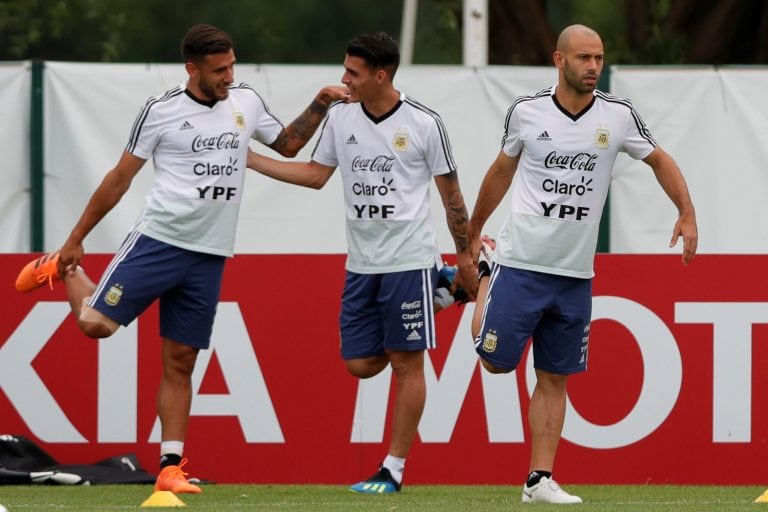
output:
[[520,155],[509,216],[494,260],[515,268],[591,278],[605,198],[619,151],[643,159],[656,147],[631,103],[595,91],[574,116],[555,87],[515,100],[502,149]]

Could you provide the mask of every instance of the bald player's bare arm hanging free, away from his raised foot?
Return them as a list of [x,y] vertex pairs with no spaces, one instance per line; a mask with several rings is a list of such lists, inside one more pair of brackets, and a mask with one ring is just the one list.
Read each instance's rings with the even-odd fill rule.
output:
[[683,173],[680,172],[680,168],[669,153],[658,146],[643,159],[643,162],[651,166],[661,188],[677,207],[678,217],[672,228],[669,246],[674,247],[678,239],[683,237],[683,265],[687,265],[696,255],[699,232],[696,227],[696,211]]

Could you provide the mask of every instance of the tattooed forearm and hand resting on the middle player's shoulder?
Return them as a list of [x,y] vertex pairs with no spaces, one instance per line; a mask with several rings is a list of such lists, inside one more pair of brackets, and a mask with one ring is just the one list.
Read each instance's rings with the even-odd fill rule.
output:
[[304,109],[304,112],[283,128],[275,142],[269,147],[283,156],[293,158],[315,134],[331,103],[337,100],[346,100],[348,97],[349,91],[345,86],[329,85],[323,87],[312,100],[312,103]]

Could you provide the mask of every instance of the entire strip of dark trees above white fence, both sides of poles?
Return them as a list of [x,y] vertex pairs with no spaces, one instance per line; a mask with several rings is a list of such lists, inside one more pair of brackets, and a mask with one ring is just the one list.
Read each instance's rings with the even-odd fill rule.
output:
[[[460,64],[463,0],[418,0],[413,62]],[[610,64],[768,63],[767,0],[488,0],[491,64],[551,65],[557,34],[595,28]],[[338,64],[354,35],[400,37],[403,0],[0,0],[0,60],[178,62],[196,23],[241,63]]]

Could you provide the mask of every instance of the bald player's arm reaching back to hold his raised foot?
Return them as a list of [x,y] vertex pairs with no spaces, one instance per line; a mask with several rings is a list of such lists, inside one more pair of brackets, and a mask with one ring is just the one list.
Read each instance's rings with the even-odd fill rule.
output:
[[469,242],[475,262],[480,253],[480,235],[482,235],[483,226],[509,190],[519,161],[519,155],[511,157],[501,150],[483,178],[480,191],[477,193],[475,209],[469,220]]

